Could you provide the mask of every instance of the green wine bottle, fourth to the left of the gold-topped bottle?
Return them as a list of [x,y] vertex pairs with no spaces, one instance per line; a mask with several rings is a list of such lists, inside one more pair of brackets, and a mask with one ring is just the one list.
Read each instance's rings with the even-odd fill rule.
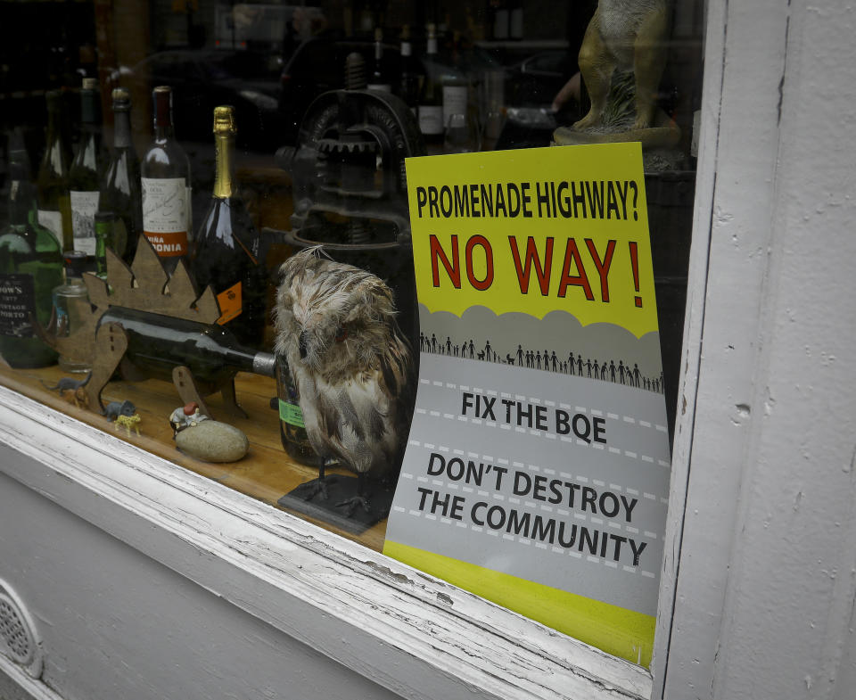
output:
[[63,128],[62,92],[51,90],[47,101],[47,144],[38,168],[38,223],[59,241],[63,250],[72,247],[69,169],[71,148]]

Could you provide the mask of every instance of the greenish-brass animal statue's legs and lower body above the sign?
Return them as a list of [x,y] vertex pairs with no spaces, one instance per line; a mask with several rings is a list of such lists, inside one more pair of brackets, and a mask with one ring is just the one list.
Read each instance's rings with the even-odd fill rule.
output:
[[632,70],[636,118],[633,130],[654,124],[657,87],[666,63],[669,0],[600,0],[580,47],[580,73],[591,109],[573,125],[601,125],[615,70]]

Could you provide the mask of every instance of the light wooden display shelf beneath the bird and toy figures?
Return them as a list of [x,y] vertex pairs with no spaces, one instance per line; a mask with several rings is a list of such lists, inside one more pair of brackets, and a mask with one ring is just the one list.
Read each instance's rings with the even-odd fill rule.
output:
[[[277,505],[278,498],[298,484],[308,482],[317,476],[315,467],[301,465],[289,457],[283,449],[280,441],[279,414],[270,408],[270,399],[276,396],[276,383],[268,377],[244,373],[237,376],[235,393],[238,403],[248,415],[247,418],[231,419],[224,416],[219,410],[222,408],[219,394],[206,398],[215,418],[240,428],[250,440],[250,452],[246,457],[240,462],[221,465],[201,462],[188,457],[176,448],[172,439],[172,428],[169,425],[169,415],[175,408],[181,406],[182,402],[172,383],[157,379],[136,383],[114,381],[104,388],[102,399],[105,404],[109,401],[125,399],[134,403],[137,414],[142,418],[138,424],[141,434],[137,436],[135,432],[128,435],[124,428],[117,431],[112,422],[104,416],[86,408],[76,407],[71,400],[70,391],[65,393],[65,397],[61,397],[57,391],[47,389],[48,386],[55,385],[62,376],[68,376],[68,373],[64,373],[59,366],[43,369],[12,369],[0,361],[0,383],[13,391],[40,401],[83,423],[94,425],[104,432],[110,432],[123,441],[169,459],[177,465],[225,484],[252,498],[258,498],[280,510],[291,512]],[[84,375],[80,376],[82,378]],[[341,470],[327,471],[333,474]],[[342,474],[349,473],[342,471]],[[353,535],[330,523],[324,523],[306,515],[294,515],[375,551],[379,552],[383,548],[385,520],[360,535]]]

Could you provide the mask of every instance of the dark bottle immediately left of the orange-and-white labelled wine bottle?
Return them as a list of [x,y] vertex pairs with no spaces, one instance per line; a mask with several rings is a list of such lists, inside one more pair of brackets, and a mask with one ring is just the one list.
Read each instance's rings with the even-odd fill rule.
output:
[[128,264],[133,262],[136,242],[143,233],[143,200],[140,161],[131,142],[131,98],[128,90],[113,90],[113,152],[101,187],[99,211],[115,217],[109,243]]

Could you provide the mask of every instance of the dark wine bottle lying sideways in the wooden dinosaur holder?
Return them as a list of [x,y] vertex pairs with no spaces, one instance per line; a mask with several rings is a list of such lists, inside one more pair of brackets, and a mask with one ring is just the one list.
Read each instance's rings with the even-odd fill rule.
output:
[[187,366],[193,377],[214,390],[238,372],[273,377],[274,356],[241,345],[222,325],[111,306],[99,325],[117,323],[128,335],[125,358],[152,379],[172,381],[172,370]]

